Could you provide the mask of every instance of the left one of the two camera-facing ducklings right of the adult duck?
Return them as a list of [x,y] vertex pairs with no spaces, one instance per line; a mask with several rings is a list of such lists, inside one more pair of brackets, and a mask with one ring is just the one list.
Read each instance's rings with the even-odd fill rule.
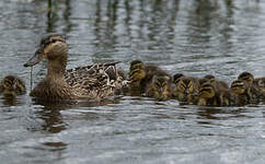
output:
[[154,97],[157,101],[168,101],[171,96],[171,77],[157,75],[152,77],[150,83],[147,84],[146,95]]

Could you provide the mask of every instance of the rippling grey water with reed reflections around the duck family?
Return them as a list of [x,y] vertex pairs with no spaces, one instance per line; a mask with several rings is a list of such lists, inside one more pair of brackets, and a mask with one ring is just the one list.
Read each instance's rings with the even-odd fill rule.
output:
[[[46,32],[68,36],[68,68],[140,59],[170,74],[242,71],[265,75],[265,2],[258,0],[0,1],[0,78],[16,74]],[[34,67],[34,84],[45,62]],[[42,105],[0,96],[0,161],[21,163],[265,162],[264,103],[198,107],[119,96],[104,103]]]

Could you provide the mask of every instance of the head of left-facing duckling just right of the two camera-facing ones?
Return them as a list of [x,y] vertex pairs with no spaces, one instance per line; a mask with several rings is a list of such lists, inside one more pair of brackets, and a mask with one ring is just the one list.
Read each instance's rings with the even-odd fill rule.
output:
[[197,94],[199,98],[211,98],[215,95],[216,95],[215,86],[211,83],[204,83],[200,86],[199,92]]

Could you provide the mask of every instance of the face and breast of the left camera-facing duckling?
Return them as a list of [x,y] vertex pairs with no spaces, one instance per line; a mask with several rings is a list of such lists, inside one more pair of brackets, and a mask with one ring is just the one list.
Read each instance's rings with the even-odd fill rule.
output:
[[154,90],[154,98],[158,101],[166,101],[170,95],[171,77],[153,75],[152,87]]

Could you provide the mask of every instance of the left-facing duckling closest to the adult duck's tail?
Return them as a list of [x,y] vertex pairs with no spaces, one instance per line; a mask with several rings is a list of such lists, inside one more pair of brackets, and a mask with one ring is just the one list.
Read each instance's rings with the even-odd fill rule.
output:
[[143,93],[147,84],[151,83],[153,75],[168,75],[168,73],[155,66],[145,65],[140,60],[131,61],[129,69],[130,90]]

